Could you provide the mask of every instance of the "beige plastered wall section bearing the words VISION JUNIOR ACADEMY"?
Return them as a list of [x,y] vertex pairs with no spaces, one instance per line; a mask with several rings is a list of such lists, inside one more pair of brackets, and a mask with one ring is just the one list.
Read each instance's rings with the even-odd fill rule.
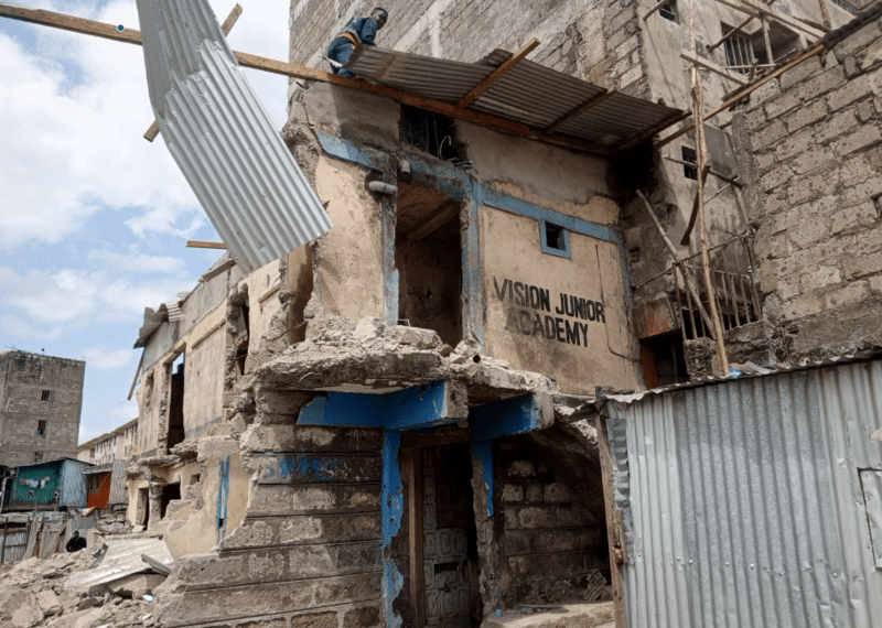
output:
[[542,252],[538,227],[528,217],[481,208],[487,353],[553,377],[567,392],[637,387],[619,247],[570,232],[572,258],[566,259]]

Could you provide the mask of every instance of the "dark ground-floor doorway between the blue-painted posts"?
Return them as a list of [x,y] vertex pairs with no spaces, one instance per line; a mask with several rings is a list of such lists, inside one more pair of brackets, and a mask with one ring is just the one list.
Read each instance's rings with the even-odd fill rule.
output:
[[405,512],[392,557],[405,576],[392,604],[404,628],[480,626],[471,444],[401,451]]

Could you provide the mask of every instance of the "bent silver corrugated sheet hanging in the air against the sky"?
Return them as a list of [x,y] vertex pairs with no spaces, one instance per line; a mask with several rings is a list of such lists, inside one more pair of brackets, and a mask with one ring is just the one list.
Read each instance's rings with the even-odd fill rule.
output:
[[251,272],[327,231],[207,0],[137,4],[162,137],[236,262]]

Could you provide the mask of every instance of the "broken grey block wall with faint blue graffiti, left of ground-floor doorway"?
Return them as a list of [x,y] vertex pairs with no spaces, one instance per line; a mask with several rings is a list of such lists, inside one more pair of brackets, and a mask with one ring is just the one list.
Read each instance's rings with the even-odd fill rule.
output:
[[[258,403],[292,408],[281,397]],[[379,626],[381,431],[254,430],[244,448],[258,483],[245,520],[218,554],[179,560],[158,598],[161,624]]]

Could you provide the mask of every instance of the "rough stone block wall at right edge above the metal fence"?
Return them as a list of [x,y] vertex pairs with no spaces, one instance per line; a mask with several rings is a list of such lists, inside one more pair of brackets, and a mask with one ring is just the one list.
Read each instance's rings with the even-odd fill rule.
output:
[[[882,339],[879,17],[755,94],[735,128],[778,359]],[[767,342],[761,339],[760,342]]]

